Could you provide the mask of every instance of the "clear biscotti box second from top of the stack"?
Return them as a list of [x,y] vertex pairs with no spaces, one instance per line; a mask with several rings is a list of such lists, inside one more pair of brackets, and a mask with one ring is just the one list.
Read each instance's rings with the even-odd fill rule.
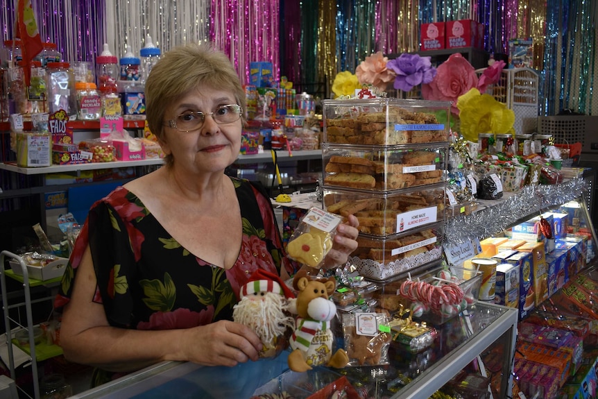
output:
[[323,144],[324,185],[391,191],[444,182],[447,146],[371,146]]

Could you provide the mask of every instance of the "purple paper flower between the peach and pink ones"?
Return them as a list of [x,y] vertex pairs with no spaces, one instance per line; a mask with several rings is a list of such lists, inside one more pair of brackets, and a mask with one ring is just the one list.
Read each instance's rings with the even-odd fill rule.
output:
[[399,58],[389,60],[386,68],[392,69],[396,74],[395,89],[404,92],[409,92],[422,83],[430,83],[436,76],[431,57],[420,57],[418,54],[402,53]]

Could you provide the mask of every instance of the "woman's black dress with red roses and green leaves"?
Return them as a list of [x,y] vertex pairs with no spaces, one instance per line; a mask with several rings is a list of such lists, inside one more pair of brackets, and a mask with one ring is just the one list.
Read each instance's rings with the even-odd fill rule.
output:
[[[243,241],[225,270],[192,255],[169,235],[142,201],[118,187],[89,210],[55,307],[68,303],[89,244],[101,303],[110,325],[137,330],[191,328],[231,320],[239,289],[253,271],[293,272],[268,196],[248,180],[231,178],[241,208]],[[205,226],[207,232],[210,226]]]

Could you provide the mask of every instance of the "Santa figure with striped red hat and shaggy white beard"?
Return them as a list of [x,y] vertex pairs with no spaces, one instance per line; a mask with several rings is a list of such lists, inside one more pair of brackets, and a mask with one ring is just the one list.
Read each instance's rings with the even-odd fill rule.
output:
[[258,269],[241,286],[241,300],[234,305],[232,319],[247,325],[262,340],[259,357],[275,357],[289,345],[295,319],[289,313],[293,292],[273,273]]

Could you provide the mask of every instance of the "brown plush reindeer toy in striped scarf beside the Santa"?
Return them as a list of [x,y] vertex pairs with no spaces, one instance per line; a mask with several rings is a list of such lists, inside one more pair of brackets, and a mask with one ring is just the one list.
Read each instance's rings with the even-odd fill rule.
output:
[[323,364],[343,368],[349,358],[342,348],[332,353],[334,334],[330,329],[330,321],[336,316],[336,305],[330,300],[336,280],[334,277],[314,279],[300,271],[293,279],[293,288],[298,291],[294,301],[297,317],[290,340],[292,351],[287,360],[289,368],[297,372]]

